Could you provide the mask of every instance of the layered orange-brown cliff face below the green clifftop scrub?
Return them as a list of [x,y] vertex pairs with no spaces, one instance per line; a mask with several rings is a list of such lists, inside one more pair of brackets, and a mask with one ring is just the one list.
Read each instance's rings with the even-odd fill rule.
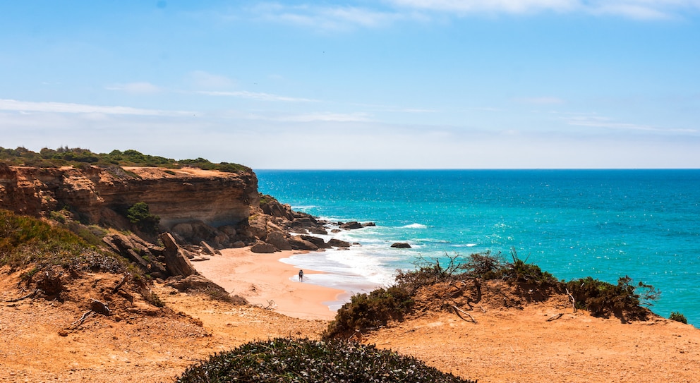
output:
[[0,164],[0,208],[45,216],[68,208],[90,224],[126,225],[125,209],[146,202],[169,230],[202,221],[236,225],[259,208],[258,178],[250,172],[114,167],[39,169]]

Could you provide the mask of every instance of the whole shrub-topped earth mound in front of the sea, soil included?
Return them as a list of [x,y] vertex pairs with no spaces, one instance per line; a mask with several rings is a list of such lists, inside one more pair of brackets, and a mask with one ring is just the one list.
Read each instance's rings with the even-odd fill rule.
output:
[[447,257],[447,265],[441,265],[440,260],[423,260],[415,270],[399,270],[394,286],[352,296],[323,336],[350,338],[419,310],[457,310],[469,315],[464,310],[483,305],[493,298],[489,294],[497,296],[491,304],[505,307],[521,307],[558,294],[567,296],[567,305],[574,310],[588,310],[596,317],[615,316],[624,322],[646,320],[651,311],[644,306],[651,305],[660,293],[641,282],[635,286],[629,276],[621,277],[617,284],[591,277],[558,281],[537,265],[521,260],[515,250],[512,262],[500,255],[476,253],[466,259]]

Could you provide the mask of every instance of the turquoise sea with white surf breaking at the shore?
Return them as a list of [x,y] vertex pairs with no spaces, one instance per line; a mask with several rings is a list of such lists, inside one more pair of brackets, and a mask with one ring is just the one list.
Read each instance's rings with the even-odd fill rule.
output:
[[[622,276],[661,292],[650,309],[700,327],[700,170],[255,170],[261,193],[328,221],[349,250],[283,260],[348,294],[397,269],[489,251],[557,279]],[[392,248],[392,243],[411,248]]]

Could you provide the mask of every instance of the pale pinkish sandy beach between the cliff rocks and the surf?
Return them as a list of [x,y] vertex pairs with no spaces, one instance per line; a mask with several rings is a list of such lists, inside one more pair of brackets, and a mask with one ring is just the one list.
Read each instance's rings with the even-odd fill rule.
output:
[[305,281],[298,281],[298,271],[281,259],[301,253],[298,250],[258,254],[250,248],[222,250],[210,260],[193,262],[200,274],[214,281],[227,292],[246,298],[253,305],[306,320],[333,320],[332,303],[346,296],[345,291],[310,283],[315,274],[304,270]]

